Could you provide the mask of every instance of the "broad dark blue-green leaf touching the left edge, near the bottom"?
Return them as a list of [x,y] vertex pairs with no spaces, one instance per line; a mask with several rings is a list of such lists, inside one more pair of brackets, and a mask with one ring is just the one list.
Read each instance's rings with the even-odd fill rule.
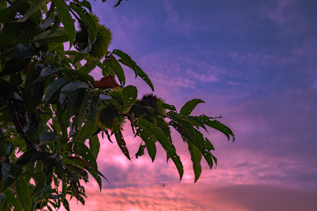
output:
[[22,167],[14,163],[2,163],[2,191],[9,188],[22,174]]

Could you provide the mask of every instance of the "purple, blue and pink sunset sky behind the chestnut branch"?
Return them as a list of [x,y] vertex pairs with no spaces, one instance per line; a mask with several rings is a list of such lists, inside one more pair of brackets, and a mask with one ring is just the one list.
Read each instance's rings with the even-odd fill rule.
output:
[[[90,0],[89,0],[90,1]],[[316,1],[116,0],[90,1],[120,49],[146,72],[154,93],[180,108],[202,99],[193,115],[222,116],[232,143],[209,128],[217,167],[202,160],[194,183],[186,144],[173,130],[184,176],[166,164],[157,145],[126,159],[116,143],[100,139],[102,190],[90,177],[86,205],[97,211],[315,211],[317,210],[317,14]],[[124,68],[126,85],[150,92]],[[95,80],[101,70],[91,72]],[[130,155],[141,140],[123,131]],[[114,136],[111,137],[114,140]],[[166,187],[161,187],[161,184]],[[65,210],[61,208],[61,210]]]

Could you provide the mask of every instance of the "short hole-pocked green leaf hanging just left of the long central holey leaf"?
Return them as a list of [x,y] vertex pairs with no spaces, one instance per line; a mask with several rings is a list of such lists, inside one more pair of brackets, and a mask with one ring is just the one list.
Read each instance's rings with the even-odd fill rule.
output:
[[137,128],[136,134],[140,136],[141,139],[146,143],[147,152],[149,153],[153,162],[156,155],[156,146],[153,136],[139,122],[135,122],[135,127]]

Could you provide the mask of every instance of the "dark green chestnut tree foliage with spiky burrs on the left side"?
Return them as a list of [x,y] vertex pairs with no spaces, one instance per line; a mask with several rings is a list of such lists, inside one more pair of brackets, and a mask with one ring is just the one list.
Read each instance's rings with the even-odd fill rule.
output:
[[[209,126],[234,140],[232,131],[214,118],[191,116],[204,103],[200,99],[187,102],[178,113],[153,93],[137,98],[137,88],[125,84],[121,64],[154,91],[151,80],[129,55],[108,51],[112,33],[88,1],[1,0],[0,7],[1,210],[57,210],[61,205],[69,210],[66,195],[84,204],[80,182],[87,182],[89,173],[101,190],[104,177],[96,162],[99,133],[110,142],[114,135],[131,159],[121,132],[124,125],[130,124],[142,139],[137,158],[146,148],[154,161],[160,144],[181,179],[183,165],[171,139],[175,128],[188,144],[195,182],[202,157],[210,169],[217,164],[213,145],[199,129]],[[65,42],[76,50],[65,51]],[[89,75],[97,66],[104,76],[100,80]]]

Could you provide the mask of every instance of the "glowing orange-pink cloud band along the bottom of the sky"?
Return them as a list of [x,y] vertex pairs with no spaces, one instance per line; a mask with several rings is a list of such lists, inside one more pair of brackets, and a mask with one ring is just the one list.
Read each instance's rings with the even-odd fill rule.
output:
[[[317,194],[301,189],[263,185],[211,186],[160,184],[86,191],[86,205],[70,201],[78,211],[315,211]],[[60,209],[64,211],[64,208]]]

